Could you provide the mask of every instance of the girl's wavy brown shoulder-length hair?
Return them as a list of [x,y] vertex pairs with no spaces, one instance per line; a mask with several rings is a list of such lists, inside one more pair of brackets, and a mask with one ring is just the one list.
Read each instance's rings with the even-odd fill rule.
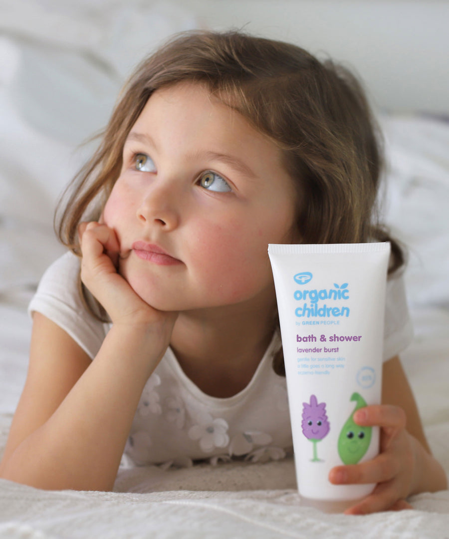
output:
[[402,248],[378,223],[381,138],[360,82],[301,47],[237,31],[178,34],[137,66],[98,150],[69,186],[65,209],[59,206],[57,233],[68,248],[80,254],[78,225],[99,218],[150,95],[183,81],[206,85],[281,150],[302,201],[302,243],[391,241],[390,272],[402,266]]

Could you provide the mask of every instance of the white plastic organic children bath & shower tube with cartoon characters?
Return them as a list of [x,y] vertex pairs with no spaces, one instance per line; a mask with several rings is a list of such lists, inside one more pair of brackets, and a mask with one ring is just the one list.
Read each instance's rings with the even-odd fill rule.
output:
[[[331,468],[379,450],[354,411],[381,402],[389,243],[268,246],[301,496],[340,510],[375,485],[333,485]],[[344,503],[320,503],[344,502]]]

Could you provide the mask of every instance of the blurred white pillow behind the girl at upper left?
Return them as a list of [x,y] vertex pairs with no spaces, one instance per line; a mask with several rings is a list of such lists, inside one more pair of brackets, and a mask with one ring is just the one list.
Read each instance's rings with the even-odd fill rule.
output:
[[3,0],[0,18],[0,294],[34,286],[62,252],[57,199],[132,67],[196,26],[170,2]]

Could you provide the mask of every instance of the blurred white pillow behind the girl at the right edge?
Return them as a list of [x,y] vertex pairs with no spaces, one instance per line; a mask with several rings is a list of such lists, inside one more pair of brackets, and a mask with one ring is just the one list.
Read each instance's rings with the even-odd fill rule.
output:
[[412,306],[449,307],[449,122],[384,116],[388,160],[385,220],[409,246]]

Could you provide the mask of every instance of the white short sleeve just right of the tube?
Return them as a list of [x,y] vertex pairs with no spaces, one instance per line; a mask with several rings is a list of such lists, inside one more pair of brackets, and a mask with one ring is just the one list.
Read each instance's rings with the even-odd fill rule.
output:
[[392,275],[386,283],[383,360],[405,350],[413,340],[413,328],[405,295],[402,273]]

